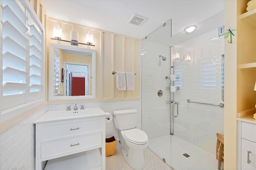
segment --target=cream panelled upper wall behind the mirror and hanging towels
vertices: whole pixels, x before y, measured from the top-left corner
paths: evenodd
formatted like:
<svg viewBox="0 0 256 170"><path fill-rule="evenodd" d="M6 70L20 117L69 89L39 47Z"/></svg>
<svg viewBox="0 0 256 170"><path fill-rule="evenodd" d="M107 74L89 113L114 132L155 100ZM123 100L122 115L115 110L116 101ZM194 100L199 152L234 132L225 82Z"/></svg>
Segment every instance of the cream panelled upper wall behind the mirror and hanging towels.
<svg viewBox="0 0 256 170"><path fill-rule="evenodd" d="M78 42L86 42L86 34L94 36L94 46L79 44L78 47L96 50L96 99L86 102L124 101L140 99L140 39L80 24L48 18L46 48L49 58L49 43L70 45L68 42L51 40L53 28L62 28L62 39L70 40L70 31L78 32ZM71 45L70 45L71 46ZM51 62L51 61L48 61ZM112 71L136 73L134 90L118 91L116 75ZM48 89L51 90L51 89ZM58 101L64 103L63 101ZM50 101L50 103L54 103Z"/></svg>

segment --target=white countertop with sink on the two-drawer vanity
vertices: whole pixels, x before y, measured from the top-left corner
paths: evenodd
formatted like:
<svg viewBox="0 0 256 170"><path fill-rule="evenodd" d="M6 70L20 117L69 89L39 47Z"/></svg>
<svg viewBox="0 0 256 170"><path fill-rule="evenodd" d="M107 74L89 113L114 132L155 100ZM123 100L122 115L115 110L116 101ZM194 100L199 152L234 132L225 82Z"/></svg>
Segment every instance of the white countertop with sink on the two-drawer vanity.
<svg viewBox="0 0 256 170"><path fill-rule="evenodd" d="M44 115L34 121L34 124L100 116L106 116L106 113L102 111L100 107L88 107L84 110L77 111L55 110L47 111Z"/></svg>

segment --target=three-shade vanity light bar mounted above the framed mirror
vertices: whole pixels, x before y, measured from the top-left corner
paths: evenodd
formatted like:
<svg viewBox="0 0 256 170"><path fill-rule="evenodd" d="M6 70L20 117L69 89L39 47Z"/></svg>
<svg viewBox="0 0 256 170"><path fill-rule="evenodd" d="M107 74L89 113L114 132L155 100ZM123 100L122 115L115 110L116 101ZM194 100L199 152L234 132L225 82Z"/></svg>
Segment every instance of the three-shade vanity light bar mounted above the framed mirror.
<svg viewBox="0 0 256 170"><path fill-rule="evenodd" d="M62 42L70 42L71 45L78 45L78 44L82 44L82 45L90 45L90 46L95 46L95 45L92 45L93 43L93 35L92 34L86 34L86 43L80 43L80 42L77 42L78 40L78 33L77 32L70 32L70 38L72 41L68 41L68 40L62 40L62 29L61 28L53 28L53 37L54 38L51 38L51 40L56 40L56 41L62 41ZM90 40L87 40L87 37L90 37ZM76 39L76 40L74 40Z"/></svg>

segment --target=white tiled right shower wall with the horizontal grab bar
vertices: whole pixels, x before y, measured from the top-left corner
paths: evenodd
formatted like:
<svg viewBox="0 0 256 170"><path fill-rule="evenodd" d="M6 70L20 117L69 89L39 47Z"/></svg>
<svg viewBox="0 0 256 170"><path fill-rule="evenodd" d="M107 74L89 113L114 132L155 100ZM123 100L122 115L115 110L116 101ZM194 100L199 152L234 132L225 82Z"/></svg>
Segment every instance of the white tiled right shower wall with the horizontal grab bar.
<svg viewBox="0 0 256 170"><path fill-rule="evenodd" d="M174 135L215 154L216 132L224 133L224 108L187 103L187 99L224 103L221 99L224 38L218 37L218 29L214 29L174 47L194 51L194 61L174 59L174 65L178 64L174 74L180 76L175 81L180 90L174 93L174 101L180 104L179 116L174 118Z"/></svg>

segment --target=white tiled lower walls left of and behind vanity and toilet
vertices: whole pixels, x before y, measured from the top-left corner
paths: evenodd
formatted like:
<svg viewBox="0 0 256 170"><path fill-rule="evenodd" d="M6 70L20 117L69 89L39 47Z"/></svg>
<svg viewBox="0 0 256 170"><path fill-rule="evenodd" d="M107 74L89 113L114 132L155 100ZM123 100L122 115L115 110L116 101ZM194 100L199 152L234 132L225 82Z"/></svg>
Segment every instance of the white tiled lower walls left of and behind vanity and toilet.
<svg viewBox="0 0 256 170"><path fill-rule="evenodd" d="M101 103L76 103L85 105L85 107L100 107L104 112L113 115L113 111L121 109L137 109L138 123L137 128L141 129L141 101L113 101ZM71 105L74 108L75 103L58 105L59 109L66 109ZM42 116L49 107L44 107L40 111L30 115L16 125L8 128L0 134L0 169L35 169L35 125L33 122ZM118 137L118 132L114 127L114 121L106 123L106 137ZM121 137L121 136L120 136ZM122 141L122 138L121 138ZM116 142L116 148L120 148L123 142Z"/></svg>

